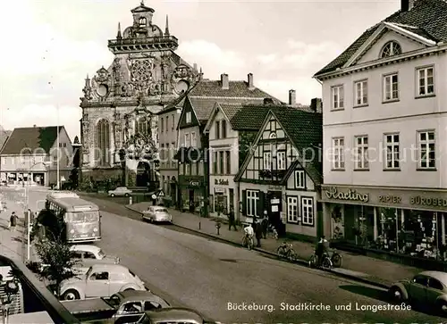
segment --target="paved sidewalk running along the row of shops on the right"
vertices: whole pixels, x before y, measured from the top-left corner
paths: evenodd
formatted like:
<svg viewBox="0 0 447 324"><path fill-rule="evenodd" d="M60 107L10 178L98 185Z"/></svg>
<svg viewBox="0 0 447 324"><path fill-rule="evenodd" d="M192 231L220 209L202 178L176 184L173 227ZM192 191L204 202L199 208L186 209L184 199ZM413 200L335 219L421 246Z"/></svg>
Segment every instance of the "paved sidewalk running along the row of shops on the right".
<svg viewBox="0 0 447 324"><path fill-rule="evenodd" d="M147 210L149 205L152 204L139 203L127 205L126 207L133 212L141 212ZM173 209L169 209L169 211L173 215L174 225L178 227L188 228L228 243L241 245L241 230L230 231L228 230L228 224L222 224L219 229L220 235L217 235L214 219L199 218L197 215L193 215L189 212L179 212ZM198 228L199 222L200 229ZM275 240L274 238L267 237L266 239L261 240L261 248L255 248L255 250L276 255L276 249L282 242L282 239ZM288 242L293 245L294 250L299 254L299 258L301 259L299 263L307 265L310 256L314 253L315 245L300 241L292 241L290 239L288 239ZM346 278L355 278L375 286L390 287L393 282L403 278L411 278L418 272L423 271L394 262L386 262L384 260L370 258L365 255L358 255L344 251L340 251L340 253L343 258L342 268L333 269L331 272Z"/></svg>

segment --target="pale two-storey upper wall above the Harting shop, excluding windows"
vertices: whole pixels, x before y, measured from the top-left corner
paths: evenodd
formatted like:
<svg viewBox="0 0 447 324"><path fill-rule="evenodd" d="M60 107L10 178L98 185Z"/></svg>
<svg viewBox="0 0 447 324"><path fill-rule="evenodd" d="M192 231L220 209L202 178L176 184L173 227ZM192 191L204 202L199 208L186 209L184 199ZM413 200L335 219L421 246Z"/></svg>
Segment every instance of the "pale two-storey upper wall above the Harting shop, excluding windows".
<svg viewBox="0 0 447 324"><path fill-rule="evenodd" d="M407 46L404 42L401 45ZM375 54L379 49L373 47ZM447 96L442 91L447 72L446 57L446 54L426 56L324 81L323 96L327 103L324 107L325 184L447 186L443 170L444 129L447 127L443 112L446 112ZM434 66L435 96L417 98L417 68L423 66ZM399 73L399 100L383 103L383 76L396 71ZM360 79L368 81L368 104L353 107L354 82ZM336 85L344 85L344 109L332 111L331 87ZM427 129L435 130L436 169L417 170L417 131ZM401 170L384 170L384 133L396 132L400 134ZM354 170L354 137L359 135L368 137L369 170ZM345 170L333 170L333 137L344 137Z"/></svg>

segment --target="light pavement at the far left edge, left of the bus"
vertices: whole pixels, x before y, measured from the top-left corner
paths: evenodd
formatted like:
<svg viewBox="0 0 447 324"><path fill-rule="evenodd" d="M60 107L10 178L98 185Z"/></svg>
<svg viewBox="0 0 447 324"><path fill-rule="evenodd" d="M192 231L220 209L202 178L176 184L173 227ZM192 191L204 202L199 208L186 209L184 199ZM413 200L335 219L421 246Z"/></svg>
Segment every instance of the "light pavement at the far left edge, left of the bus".
<svg viewBox="0 0 447 324"><path fill-rule="evenodd" d="M7 210L0 212L0 254L17 261L26 261L27 242L26 233L24 233L24 199L20 195L12 197L4 190L0 191L0 201L6 203ZM15 231L8 228L11 214L15 212L19 216L19 221ZM30 260L37 260L36 253L31 246Z"/></svg>

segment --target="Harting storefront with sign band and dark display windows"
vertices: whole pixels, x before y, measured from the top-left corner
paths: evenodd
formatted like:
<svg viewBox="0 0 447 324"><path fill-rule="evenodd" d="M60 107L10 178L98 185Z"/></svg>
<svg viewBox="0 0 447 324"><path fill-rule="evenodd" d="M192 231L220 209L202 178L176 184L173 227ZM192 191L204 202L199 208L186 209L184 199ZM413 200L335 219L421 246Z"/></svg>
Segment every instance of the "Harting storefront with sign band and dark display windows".
<svg viewBox="0 0 447 324"><path fill-rule="evenodd" d="M446 255L447 190L322 186L333 239L431 259Z"/></svg>

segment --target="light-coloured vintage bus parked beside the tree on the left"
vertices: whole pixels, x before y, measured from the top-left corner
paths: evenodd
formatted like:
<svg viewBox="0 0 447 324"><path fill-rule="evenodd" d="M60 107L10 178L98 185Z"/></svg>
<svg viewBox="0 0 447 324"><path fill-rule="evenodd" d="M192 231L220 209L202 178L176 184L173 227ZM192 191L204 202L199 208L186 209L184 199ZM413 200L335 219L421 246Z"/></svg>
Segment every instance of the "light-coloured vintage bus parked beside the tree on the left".
<svg viewBox="0 0 447 324"><path fill-rule="evenodd" d="M63 220L63 235L68 243L87 243L101 239L101 216L96 204L72 192L46 195L46 210Z"/></svg>

